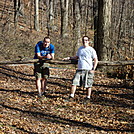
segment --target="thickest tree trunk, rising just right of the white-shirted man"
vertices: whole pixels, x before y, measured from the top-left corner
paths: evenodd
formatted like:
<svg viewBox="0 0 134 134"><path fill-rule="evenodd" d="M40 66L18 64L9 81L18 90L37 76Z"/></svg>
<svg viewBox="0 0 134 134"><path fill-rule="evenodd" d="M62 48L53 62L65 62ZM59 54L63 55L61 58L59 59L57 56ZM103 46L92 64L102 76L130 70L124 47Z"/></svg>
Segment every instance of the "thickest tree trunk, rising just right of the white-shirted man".
<svg viewBox="0 0 134 134"><path fill-rule="evenodd" d="M97 53L99 60L110 59L112 0L98 1Z"/></svg>

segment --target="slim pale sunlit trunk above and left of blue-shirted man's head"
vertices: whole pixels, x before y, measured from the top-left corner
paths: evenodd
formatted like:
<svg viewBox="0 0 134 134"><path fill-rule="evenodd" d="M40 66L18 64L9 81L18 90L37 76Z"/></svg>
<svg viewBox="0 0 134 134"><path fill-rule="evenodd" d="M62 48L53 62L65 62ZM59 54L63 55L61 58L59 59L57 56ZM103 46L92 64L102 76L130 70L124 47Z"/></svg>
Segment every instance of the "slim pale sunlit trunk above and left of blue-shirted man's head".
<svg viewBox="0 0 134 134"><path fill-rule="evenodd" d="M39 0L35 0L34 29L39 31Z"/></svg>

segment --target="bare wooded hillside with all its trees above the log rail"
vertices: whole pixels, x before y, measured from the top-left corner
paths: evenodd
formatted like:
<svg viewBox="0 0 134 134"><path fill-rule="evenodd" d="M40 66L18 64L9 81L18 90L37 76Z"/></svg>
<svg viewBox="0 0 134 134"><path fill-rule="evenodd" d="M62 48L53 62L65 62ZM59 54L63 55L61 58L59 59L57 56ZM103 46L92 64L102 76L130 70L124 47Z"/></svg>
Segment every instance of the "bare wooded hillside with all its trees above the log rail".
<svg viewBox="0 0 134 134"><path fill-rule="evenodd" d="M33 58L34 46L50 36L56 58L75 55L91 37L99 60L134 57L133 0L1 0L1 60Z"/></svg>

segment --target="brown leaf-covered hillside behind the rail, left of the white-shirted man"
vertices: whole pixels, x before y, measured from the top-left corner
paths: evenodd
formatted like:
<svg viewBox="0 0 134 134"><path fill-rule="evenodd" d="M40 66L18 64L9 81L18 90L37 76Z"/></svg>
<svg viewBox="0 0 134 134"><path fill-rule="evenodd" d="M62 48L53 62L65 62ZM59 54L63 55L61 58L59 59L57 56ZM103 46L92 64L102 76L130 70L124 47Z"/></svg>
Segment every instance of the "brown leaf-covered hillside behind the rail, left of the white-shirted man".
<svg viewBox="0 0 134 134"><path fill-rule="evenodd" d="M22 2L24 14L18 15L18 25L14 24L14 1L0 1L0 60L19 60L33 58L35 44L48 36L47 8L40 5L40 30L34 29L34 2L25 0ZM40 4L43 4L40 2ZM42 9L41 9L42 8ZM61 38L60 6L56 7L58 16L52 27L49 27L51 43L56 47L56 59L64 56L72 56L74 52L74 40L72 24L69 25L68 37ZM89 26L90 27L90 26ZM81 29L82 34L84 29ZM89 29L88 33L93 38L94 31ZM64 45L63 45L64 44ZM68 48L68 49L66 49ZM60 53L60 55L59 55Z"/></svg>

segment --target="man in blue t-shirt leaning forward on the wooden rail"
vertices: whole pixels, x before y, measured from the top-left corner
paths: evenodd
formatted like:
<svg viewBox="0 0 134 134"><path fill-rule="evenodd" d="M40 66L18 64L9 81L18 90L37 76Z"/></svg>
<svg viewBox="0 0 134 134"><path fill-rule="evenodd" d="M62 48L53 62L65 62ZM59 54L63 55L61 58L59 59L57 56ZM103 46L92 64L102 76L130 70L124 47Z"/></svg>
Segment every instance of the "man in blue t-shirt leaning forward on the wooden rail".
<svg viewBox="0 0 134 134"><path fill-rule="evenodd" d="M36 88L39 96L42 96L46 90L47 78L49 77L48 64L44 63L44 59L54 59L55 47L50 43L50 38L45 37L43 41L39 41L35 46L34 59L39 59L34 64L34 74L36 77Z"/></svg>

